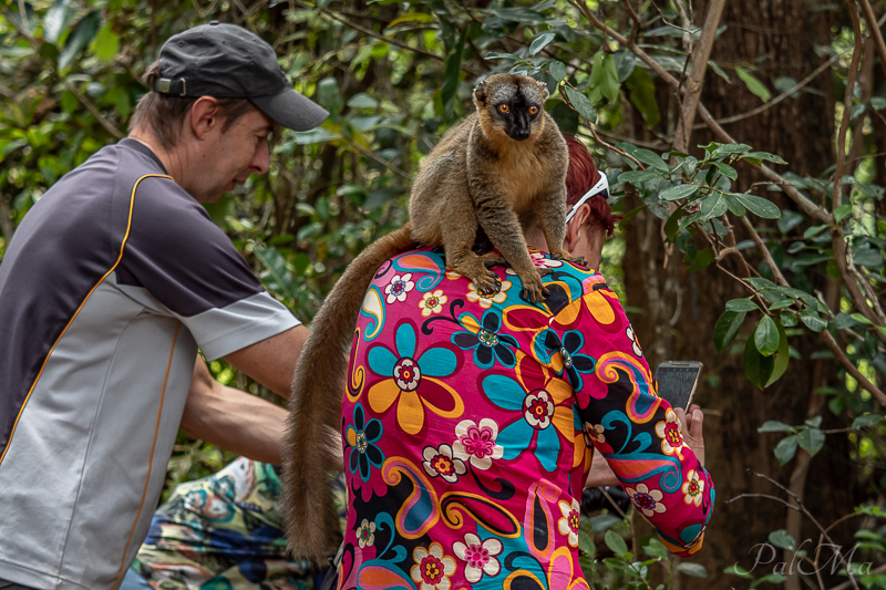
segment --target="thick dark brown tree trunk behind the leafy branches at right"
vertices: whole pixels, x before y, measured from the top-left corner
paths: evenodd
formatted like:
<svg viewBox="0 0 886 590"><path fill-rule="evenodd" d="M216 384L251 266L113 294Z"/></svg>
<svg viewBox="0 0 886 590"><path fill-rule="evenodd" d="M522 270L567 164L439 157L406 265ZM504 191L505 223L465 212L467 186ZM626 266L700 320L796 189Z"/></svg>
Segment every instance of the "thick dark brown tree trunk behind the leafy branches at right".
<svg viewBox="0 0 886 590"><path fill-rule="evenodd" d="M814 52L814 42L816 37L824 42L830 39L827 19L831 13L813 8L805 0L745 0L727 4L722 24L728 28L717 40L712 59L729 72L731 83L709 69L701 99L715 118L744 113L761 105L761 100L735 75L735 66L752 72L775 96L780 93L772 84L775 79L791 76L802 80L822 63L823 58ZM700 24L703 18L704 6L697 2L696 23ZM755 59L759 56L764 56L764 60L758 62ZM787 99L725 128L739 142L750 144L754 149L781 155L790 163L787 169L801 176L818 176L833 162L834 103L831 85L830 73L825 72L810 85L820 91L817 94L802 92L797 99ZM660 103L660 107L663 111L666 105ZM632 118L641 122L638 115ZM661 134L669 132L663 123L657 131ZM635 137L655 138L641 128L635 128ZM697 131L689 145L703 145L711 139L713 136L707 130ZM690 153L699 156L700 149L690 148ZM748 190L753 183L763 179L750 165L740 166L739 175L740 183L733 187L735 192ZM764 190L763 186L759 186L753 187L752 192L766 196L783 208L796 209L780 193ZM637 205L639 201L631 203L626 209ZM753 216L750 219L755 226L764 224ZM628 303L645 310L645 313L631 317L631 321L640 342L646 345L645 351L652 368L663 360L699 360L704 363L696 400L707 411L707 467L717 486L717 501L704 549L693 561L707 567L709 578L683 578L681 587L729 588L739 580L723 575L723 569L735 562L751 569L760 550L759 544L766 542L770 531L787 527L785 508L779 503L741 498L727 504L742 493L785 496L771 484L749 475L748 469L767 474L783 485L793 484L801 495L805 489L805 503L825 526L852 510L848 490L851 476L844 459L847 456L845 437L830 435L824 452L813 457L808 466L799 464L797 458L780 467L772 449L783 435L761 435L756 432L767 420L802 424L811 408L820 415L828 414L825 416L827 424L833 416L827 410L821 408L823 404L818 403L818 396L813 396L812 391L826 384L837 385L827 383L828 379L834 379L836 371L830 361L821 361L826 369L813 372L815 361L811 361L810 355L821 346L814 334L804 332L802 337L790 339L802 360L792 360L785 375L765 392L751 385L744 376L742 346L733 344L732 351L719 354L712 340L714 324L725 302L749 293L714 266L697 272L686 271L686 265L679 259L682 255L676 248L667 251L662 244L661 225L661 220L643 210L626 228L628 248L624 272ZM740 227L735 225L738 240L744 239L745 236L739 232ZM774 224L770 225L774 227ZM802 232L802 229L796 231ZM777 235L776 230L766 236ZM699 249L708 247L701 239L697 240L697 246ZM748 258L752 266L760 261L754 253ZM735 276L745 276L735 257L727 257L722 263ZM765 275L765 269L761 273ZM813 278L813 283L826 290L824 277ZM751 315L742 330L745 338L759 320L759 315ZM740 342L743 343L742 337ZM823 375L822 381L815 382L813 373ZM796 522L792 522L792 528L797 528ZM800 530L797 544L805 538L812 538L813 546L817 544L817 531L813 532L808 522L803 522ZM841 531L836 532L839 536ZM808 544L805 548L808 549ZM765 549L761 560L767 557L769 550ZM771 573L773 567L784 560L781 550L777 550L771 563L763 565L761 561L752 573L754 578ZM790 565L789 558L785 573ZM799 588L793 583L791 586Z"/></svg>

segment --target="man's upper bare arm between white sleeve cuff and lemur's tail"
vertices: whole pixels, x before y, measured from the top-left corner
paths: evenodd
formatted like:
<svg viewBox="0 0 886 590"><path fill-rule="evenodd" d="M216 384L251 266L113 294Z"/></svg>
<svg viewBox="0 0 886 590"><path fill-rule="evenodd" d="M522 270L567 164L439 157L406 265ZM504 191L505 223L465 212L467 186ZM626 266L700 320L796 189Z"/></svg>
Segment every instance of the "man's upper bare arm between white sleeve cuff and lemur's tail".
<svg viewBox="0 0 886 590"><path fill-rule="evenodd" d="M225 360L274 393L289 397L296 362L310 332L296 325L267 340L231 352Z"/></svg>

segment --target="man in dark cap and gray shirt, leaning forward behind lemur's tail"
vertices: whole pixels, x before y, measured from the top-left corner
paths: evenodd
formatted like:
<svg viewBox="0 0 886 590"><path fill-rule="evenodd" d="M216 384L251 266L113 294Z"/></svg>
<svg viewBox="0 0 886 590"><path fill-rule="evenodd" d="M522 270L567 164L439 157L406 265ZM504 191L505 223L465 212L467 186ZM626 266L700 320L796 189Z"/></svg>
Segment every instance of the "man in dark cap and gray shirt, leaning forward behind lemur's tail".
<svg viewBox="0 0 886 590"><path fill-rule="evenodd" d="M0 589L119 587L179 423L280 460L285 411L197 350L288 395L307 329L200 203L268 172L277 125L327 112L231 24L172 37L148 80L130 136L45 193L0 266Z"/></svg>

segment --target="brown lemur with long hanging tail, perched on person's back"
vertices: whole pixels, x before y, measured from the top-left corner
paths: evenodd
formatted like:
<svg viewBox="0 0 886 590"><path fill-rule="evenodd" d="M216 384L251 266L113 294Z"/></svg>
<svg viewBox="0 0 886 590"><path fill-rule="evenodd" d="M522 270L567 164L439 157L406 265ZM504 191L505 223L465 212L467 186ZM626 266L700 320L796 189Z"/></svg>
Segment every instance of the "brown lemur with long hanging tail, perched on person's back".
<svg viewBox="0 0 886 590"><path fill-rule="evenodd" d="M442 245L446 267L477 289L497 292L486 267L506 262L523 282L525 299L547 294L523 229L537 224L554 257L583 263L563 249L569 153L544 111L548 92L528 76L495 74L474 90L476 112L424 158L410 194L410 221L358 256L318 312L298 362L289 401L285 447L286 530L299 558L323 561L339 544L339 519L329 488L341 459L338 442L348 349L361 302L387 259L421 245ZM482 228L501 252L477 257L471 248Z"/></svg>

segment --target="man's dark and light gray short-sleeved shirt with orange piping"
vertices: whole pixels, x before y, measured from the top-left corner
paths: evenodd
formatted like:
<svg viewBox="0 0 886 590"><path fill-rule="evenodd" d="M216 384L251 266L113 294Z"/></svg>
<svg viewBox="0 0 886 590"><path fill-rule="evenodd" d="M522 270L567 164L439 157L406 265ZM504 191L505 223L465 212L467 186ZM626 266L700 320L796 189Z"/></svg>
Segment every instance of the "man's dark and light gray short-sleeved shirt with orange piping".
<svg viewBox="0 0 886 590"><path fill-rule="evenodd" d="M0 579L117 587L197 349L214 360L297 324L143 144L53 185L0 265Z"/></svg>

